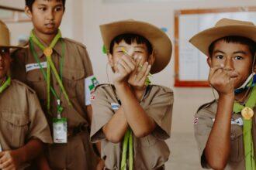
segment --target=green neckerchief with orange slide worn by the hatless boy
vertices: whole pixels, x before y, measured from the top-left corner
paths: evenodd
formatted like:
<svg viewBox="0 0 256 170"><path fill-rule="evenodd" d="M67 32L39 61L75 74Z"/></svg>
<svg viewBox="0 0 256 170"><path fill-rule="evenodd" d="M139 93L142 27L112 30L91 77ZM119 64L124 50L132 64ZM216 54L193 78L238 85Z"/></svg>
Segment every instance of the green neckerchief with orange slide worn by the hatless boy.
<svg viewBox="0 0 256 170"><path fill-rule="evenodd" d="M56 77L57 83L61 87L61 91L64 93L64 97L66 98L68 105L72 106L71 101L69 100L69 98L67 96L67 92L64 89L64 86L63 86L63 83L62 83L62 78L57 73L56 67L54 66L54 62L51 59L51 55L53 53L53 48L57 44L59 39L61 39L61 31L60 30L57 32L57 35L54 37L53 41L50 43L50 46L45 47L40 42L40 40L37 39L37 37L34 35L33 31L30 34L30 45L31 45L31 49L33 51L33 56L35 57L37 63L39 64L40 70L42 70L42 72L43 72L44 79L47 81L47 110L48 110L48 113L50 113L50 90L52 91L52 93L54 93L54 96L57 97L57 94L56 94L55 90L50 86L50 72L51 72L51 69L54 72L54 76ZM43 67L40 64L40 61L39 61L38 56L36 54L36 51L33 48L33 42L36 43L36 45L39 46L41 50L43 50L43 54L47 57L47 73L44 72ZM63 57L64 56L62 56L62 58ZM62 66L61 66L60 72L61 72L61 76L62 76ZM61 107L61 104L59 102L60 101L59 97L57 97L57 101L58 101L57 102L57 112L59 114L61 114L61 112L63 110L63 107Z"/></svg>

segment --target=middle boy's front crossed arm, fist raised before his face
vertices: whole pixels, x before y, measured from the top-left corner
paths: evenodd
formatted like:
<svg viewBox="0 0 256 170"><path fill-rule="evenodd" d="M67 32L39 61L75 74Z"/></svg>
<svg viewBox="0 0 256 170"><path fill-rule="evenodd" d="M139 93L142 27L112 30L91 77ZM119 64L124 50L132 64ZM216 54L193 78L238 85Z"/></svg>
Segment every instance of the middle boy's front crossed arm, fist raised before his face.
<svg viewBox="0 0 256 170"><path fill-rule="evenodd" d="M137 69L137 63L135 63L129 56L123 56L119 59L116 68L113 80L116 87L116 93L122 102L123 114L135 136L137 136L137 138L144 137L154 130L156 124L140 106L136 95L127 83L127 76ZM140 73L137 74L140 76L141 82L146 80L149 72L150 65L146 62L140 70Z"/></svg>

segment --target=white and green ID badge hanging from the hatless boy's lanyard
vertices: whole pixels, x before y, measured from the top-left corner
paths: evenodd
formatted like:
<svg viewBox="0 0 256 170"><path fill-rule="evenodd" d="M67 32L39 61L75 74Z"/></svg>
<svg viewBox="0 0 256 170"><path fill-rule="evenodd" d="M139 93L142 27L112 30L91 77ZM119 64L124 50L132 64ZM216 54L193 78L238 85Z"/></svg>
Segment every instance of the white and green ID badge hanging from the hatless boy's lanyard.
<svg viewBox="0 0 256 170"><path fill-rule="evenodd" d="M54 118L54 143L67 143L67 118Z"/></svg>

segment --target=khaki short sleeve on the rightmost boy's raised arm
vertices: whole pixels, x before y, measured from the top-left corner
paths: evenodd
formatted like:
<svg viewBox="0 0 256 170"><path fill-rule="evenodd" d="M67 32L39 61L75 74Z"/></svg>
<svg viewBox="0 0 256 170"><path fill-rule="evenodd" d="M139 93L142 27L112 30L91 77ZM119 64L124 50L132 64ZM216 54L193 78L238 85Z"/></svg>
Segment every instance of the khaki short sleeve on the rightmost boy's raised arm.
<svg viewBox="0 0 256 170"><path fill-rule="evenodd" d="M194 133L195 141L199 149L199 158L202 168L209 168L204 155L204 150L206 148L206 143L208 141L209 134L212 131L212 128L213 118L208 116L208 113L205 109L199 110L199 112L195 114Z"/></svg>

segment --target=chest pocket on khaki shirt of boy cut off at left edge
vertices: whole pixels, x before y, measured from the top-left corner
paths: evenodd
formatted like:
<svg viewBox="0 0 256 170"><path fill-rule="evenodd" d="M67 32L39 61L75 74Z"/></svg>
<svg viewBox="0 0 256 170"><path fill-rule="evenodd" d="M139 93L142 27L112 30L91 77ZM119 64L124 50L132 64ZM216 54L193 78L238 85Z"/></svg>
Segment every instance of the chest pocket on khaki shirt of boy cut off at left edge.
<svg viewBox="0 0 256 170"><path fill-rule="evenodd" d="M25 145L29 131L29 117L14 111L4 110L0 113L1 129L12 148Z"/></svg>

